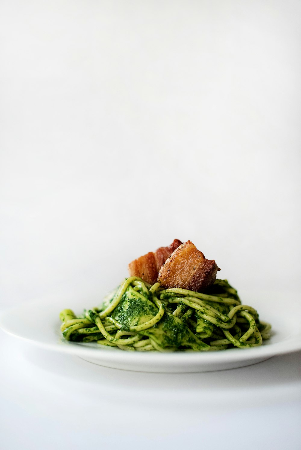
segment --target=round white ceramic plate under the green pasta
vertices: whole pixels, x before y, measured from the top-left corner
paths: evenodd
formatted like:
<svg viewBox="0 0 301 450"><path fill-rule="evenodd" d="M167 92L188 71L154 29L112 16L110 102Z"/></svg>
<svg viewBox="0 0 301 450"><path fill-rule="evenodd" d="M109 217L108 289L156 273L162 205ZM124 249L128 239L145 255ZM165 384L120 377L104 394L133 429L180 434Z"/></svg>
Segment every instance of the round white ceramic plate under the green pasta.
<svg viewBox="0 0 301 450"><path fill-rule="evenodd" d="M247 297L247 298L246 298ZM244 304L257 308L260 318L272 324L273 335L261 347L214 352L128 352L102 348L96 343L67 342L61 337L59 312L70 308L76 314L99 304L99 297L52 296L2 312L0 326L18 338L48 350L75 354L92 363L141 372L206 372L233 369L267 360L275 355L301 350L301 302L297 294L248 293Z"/></svg>

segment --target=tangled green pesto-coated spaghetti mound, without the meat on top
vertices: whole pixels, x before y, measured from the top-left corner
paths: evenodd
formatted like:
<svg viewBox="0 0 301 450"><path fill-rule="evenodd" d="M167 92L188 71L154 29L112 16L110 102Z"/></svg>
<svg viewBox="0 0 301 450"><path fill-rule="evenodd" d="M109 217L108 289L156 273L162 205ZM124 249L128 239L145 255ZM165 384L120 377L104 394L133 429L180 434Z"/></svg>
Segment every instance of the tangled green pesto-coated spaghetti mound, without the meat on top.
<svg viewBox="0 0 301 450"><path fill-rule="evenodd" d="M99 307L76 316L59 315L68 341L92 342L127 351L213 351L256 347L269 339L271 325L242 305L227 280L206 293L153 286L126 278Z"/></svg>

